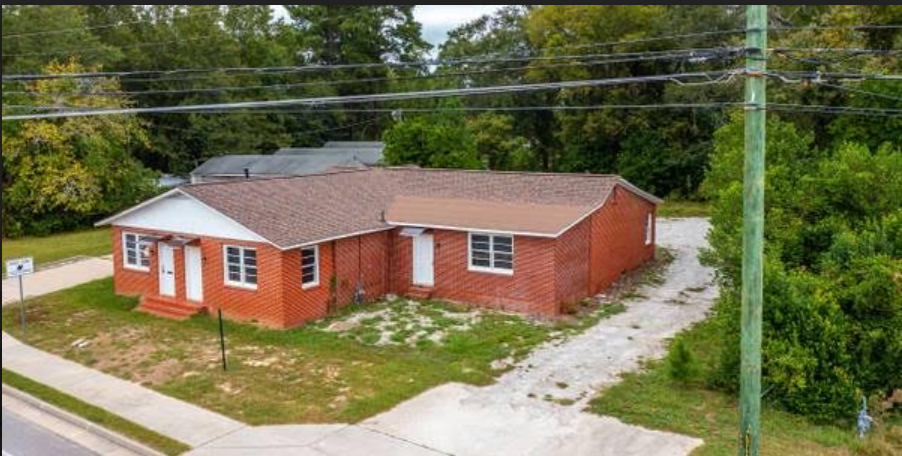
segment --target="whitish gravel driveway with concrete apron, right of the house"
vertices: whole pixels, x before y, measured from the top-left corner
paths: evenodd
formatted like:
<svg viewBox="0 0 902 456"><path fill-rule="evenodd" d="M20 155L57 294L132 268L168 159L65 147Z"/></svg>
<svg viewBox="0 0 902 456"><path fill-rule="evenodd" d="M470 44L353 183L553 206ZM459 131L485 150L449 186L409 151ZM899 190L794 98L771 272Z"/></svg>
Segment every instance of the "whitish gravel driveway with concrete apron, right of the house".
<svg viewBox="0 0 902 456"><path fill-rule="evenodd" d="M699 439L630 426L582 412L588 401L642 359L663 356L666 340L702 320L717 290L698 262L708 222L658 221L657 242L675 259L664 283L583 334L536 349L488 387L446 384L373 417L363 426L459 456L682 456ZM561 405L567 404L567 405Z"/></svg>

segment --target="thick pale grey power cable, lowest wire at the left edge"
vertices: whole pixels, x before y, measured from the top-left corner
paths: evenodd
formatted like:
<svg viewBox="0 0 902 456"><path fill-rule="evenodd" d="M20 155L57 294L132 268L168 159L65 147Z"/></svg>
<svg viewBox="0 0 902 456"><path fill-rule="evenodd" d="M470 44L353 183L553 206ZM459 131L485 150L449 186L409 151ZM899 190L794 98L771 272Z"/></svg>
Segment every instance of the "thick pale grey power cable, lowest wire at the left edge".
<svg viewBox="0 0 902 456"><path fill-rule="evenodd" d="M275 106L325 106L333 104L346 103L364 103L364 102L384 102L384 101L402 101L417 100L428 98L447 98L456 96L474 96L489 95L498 93L520 93L536 90L552 90L552 89L573 89L582 87L600 87L609 85L649 83L649 82L673 82L678 84L692 84L693 79L702 79L695 82L696 84L716 84L729 82L733 76L739 74L739 70L716 71L716 72L695 72L695 73L678 73L654 76L634 76L623 78L608 79L587 79L577 81L562 82L545 82L535 84L515 84L504 86L489 87L472 87L462 89L442 89L431 91L417 92L394 92L370 95L345 95L318 98L296 98L283 100L267 100L267 101L242 101L230 103L213 103L202 105L184 105L184 106L162 106L162 107L146 107L146 108L116 108L116 109L92 109L80 111L67 111L56 113L42 114L22 114L3 117L3 121L7 120L27 120L27 119L49 119L62 117L80 117L80 116L97 116L97 115L118 115L118 114L141 114L141 113L175 113L189 112L201 110L223 110L223 109L245 109L245 108L265 108ZM716 78L716 79L715 79ZM686 80L686 81L684 81Z"/></svg>

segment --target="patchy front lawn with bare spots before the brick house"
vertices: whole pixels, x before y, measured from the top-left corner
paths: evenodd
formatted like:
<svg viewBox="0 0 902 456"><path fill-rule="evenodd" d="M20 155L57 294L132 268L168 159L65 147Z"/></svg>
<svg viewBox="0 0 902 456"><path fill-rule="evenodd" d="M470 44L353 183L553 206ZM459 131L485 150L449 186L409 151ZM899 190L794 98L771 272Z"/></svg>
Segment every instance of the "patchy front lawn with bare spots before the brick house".
<svg viewBox="0 0 902 456"><path fill-rule="evenodd" d="M114 295L110 279L33 298L28 343L250 424L273 424L356 422L445 382L487 384L500 373L493 360L523 356L552 333L566 333L483 312L442 343L380 346L368 335L375 317L345 333L325 330L335 319L288 331L227 322L223 372L215 319L171 321L134 312L136 303ZM358 307L336 318L392 305ZM439 318L441 329L455 325L452 314L460 311L427 303L420 312ZM13 335L16 312L3 311L4 330ZM86 345L77 348L76 341Z"/></svg>

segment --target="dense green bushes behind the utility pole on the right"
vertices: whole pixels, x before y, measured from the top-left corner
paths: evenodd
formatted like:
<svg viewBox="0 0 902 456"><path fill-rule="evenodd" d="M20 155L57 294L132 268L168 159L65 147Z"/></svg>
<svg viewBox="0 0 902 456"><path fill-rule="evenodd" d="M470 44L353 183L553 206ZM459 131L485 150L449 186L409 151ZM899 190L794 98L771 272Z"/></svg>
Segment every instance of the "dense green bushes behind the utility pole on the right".
<svg viewBox="0 0 902 456"><path fill-rule="evenodd" d="M849 417L860 396L902 387L902 151L885 143L818 148L768 120L764 382L770 398L820 419ZM722 272L717 318L731 339L716 384L739 362L742 118L716 134L703 185L715 200L712 250Z"/></svg>

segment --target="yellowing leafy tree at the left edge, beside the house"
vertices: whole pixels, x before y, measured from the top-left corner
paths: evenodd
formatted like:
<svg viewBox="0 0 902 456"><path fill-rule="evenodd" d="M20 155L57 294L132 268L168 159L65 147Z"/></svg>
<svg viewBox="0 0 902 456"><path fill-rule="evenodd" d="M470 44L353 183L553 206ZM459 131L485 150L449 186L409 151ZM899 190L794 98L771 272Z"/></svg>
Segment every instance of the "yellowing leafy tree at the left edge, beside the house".
<svg viewBox="0 0 902 456"><path fill-rule="evenodd" d="M48 73L84 71L75 64L50 65ZM40 81L33 93L52 104L54 93L115 91L115 80ZM78 108L121 108L116 97L74 97ZM72 117L30 120L3 134L3 234L46 234L83 226L98 216L135 204L155 191L154 173L129 150L146 144L135 117Z"/></svg>

